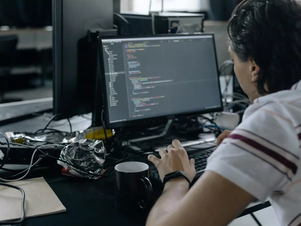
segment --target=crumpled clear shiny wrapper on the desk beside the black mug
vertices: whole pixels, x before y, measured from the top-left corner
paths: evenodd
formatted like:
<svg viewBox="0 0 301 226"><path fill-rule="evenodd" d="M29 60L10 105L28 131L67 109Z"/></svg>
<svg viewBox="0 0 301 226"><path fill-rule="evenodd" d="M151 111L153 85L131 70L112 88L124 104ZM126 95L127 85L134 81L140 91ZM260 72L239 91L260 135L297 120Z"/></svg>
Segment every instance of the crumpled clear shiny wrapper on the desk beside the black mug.
<svg viewBox="0 0 301 226"><path fill-rule="evenodd" d="M106 154L101 140L83 139L66 146L61 152L60 159L78 166L88 173L101 175L104 172ZM90 179L99 178L99 176L88 174L64 162L57 161L57 163L75 176Z"/></svg>

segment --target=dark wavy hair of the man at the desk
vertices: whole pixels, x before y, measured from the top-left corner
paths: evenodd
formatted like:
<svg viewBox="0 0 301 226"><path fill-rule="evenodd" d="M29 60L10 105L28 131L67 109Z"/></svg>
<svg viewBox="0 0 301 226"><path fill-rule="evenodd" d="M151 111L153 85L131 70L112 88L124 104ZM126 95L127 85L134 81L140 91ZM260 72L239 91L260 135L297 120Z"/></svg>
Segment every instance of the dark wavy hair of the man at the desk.
<svg viewBox="0 0 301 226"><path fill-rule="evenodd" d="M253 58L259 66L259 94L289 89L301 80L301 5L296 0L244 0L233 11L228 34L239 60Z"/></svg>

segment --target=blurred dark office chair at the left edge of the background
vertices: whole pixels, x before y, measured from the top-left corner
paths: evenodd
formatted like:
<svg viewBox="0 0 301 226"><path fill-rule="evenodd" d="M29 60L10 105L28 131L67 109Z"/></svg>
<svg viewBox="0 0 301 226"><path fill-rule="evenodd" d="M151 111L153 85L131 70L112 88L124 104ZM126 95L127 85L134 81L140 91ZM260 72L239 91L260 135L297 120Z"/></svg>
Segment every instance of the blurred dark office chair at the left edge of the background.
<svg viewBox="0 0 301 226"><path fill-rule="evenodd" d="M17 52L18 36L0 36L0 103L21 101L22 99L4 99L7 91L8 78L14 65Z"/></svg>

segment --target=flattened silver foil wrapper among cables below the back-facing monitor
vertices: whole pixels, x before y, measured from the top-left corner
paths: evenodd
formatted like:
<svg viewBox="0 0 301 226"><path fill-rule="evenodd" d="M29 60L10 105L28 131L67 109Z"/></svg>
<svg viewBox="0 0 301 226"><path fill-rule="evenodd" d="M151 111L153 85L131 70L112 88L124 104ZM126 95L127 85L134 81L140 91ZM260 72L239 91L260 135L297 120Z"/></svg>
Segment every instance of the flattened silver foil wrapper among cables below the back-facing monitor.
<svg viewBox="0 0 301 226"><path fill-rule="evenodd" d="M79 136L79 132L66 133L66 132L53 132L53 133L28 133L28 132L7 132L5 133L12 142L20 143L21 139L24 142L37 141L49 143L69 143L68 140ZM23 142L21 142L23 143Z"/></svg>

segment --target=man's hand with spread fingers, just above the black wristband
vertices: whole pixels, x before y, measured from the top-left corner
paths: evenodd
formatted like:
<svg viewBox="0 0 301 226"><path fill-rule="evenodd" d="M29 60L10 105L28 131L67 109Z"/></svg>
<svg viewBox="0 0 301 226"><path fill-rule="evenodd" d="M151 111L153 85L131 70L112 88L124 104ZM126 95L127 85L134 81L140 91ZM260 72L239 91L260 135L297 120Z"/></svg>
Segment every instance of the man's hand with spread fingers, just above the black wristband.
<svg viewBox="0 0 301 226"><path fill-rule="evenodd" d="M183 148L180 141L173 140L172 145L167 147L167 152L164 149L159 150L161 159L158 159L154 155L148 156L148 160L154 163L154 165L157 167L162 182L166 174L178 170L185 173L189 177L190 181L192 181L196 174L194 168L194 159L188 159L187 152Z"/></svg>

